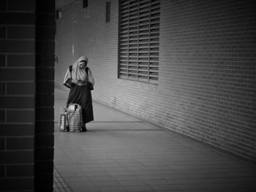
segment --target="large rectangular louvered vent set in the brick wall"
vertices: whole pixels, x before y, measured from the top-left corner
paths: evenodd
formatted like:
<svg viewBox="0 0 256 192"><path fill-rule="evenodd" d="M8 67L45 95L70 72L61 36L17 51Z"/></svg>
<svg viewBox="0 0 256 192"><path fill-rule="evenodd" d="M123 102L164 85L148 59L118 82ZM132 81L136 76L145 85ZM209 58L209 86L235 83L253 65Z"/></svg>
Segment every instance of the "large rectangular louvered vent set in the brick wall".
<svg viewBox="0 0 256 192"><path fill-rule="evenodd" d="M118 77L158 83L159 0L120 1Z"/></svg>

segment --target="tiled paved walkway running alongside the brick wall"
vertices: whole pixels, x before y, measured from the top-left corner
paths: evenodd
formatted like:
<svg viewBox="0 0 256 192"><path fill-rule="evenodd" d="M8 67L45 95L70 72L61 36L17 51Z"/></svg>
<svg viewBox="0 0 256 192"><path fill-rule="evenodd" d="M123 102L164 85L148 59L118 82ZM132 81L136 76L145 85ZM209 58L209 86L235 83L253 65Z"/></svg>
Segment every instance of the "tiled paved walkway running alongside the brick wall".
<svg viewBox="0 0 256 192"><path fill-rule="evenodd" d="M97 102L94 119L88 132L55 132L66 191L256 191L255 166Z"/></svg>

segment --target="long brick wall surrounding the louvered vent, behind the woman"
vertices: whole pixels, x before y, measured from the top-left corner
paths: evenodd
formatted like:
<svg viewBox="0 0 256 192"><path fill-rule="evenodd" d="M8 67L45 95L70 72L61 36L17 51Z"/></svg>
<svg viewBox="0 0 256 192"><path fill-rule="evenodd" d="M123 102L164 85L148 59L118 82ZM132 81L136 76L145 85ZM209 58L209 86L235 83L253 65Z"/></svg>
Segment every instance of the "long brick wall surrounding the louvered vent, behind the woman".
<svg viewBox="0 0 256 192"><path fill-rule="evenodd" d="M254 1L161 1L159 85L117 79L118 1L62 7L56 88L89 57L93 99L255 162ZM97 115L97 114L94 114Z"/></svg>

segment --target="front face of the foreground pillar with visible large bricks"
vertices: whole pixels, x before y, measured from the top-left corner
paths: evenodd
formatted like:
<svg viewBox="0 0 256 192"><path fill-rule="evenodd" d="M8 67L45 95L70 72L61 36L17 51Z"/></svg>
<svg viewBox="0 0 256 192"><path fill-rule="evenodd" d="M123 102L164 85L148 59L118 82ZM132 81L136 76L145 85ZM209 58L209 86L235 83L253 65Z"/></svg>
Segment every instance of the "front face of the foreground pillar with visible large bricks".
<svg viewBox="0 0 256 192"><path fill-rule="evenodd" d="M36 7L17 4L0 4L0 191L34 191Z"/></svg>

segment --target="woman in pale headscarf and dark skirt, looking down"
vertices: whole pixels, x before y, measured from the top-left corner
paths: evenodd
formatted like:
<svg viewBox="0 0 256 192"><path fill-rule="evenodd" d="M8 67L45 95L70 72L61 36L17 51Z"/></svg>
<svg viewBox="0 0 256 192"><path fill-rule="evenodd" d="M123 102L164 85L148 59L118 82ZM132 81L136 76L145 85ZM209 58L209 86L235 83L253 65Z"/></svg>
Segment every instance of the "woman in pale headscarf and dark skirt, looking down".
<svg viewBox="0 0 256 192"><path fill-rule="evenodd" d="M81 56L78 61L72 64L72 72L67 69L67 73L64 77L64 85L71 75L71 86L69 91L69 97L67 99L67 105L71 103L80 104L83 112L83 129L87 131L86 123L94 120L94 112L92 109L91 91L89 85L94 86L94 77L92 76L91 69L87 66L88 58ZM87 68L87 69L86 69ZM88 70L88 71L87 71ZM87 71L87 73L86 73Z"/></svg>

